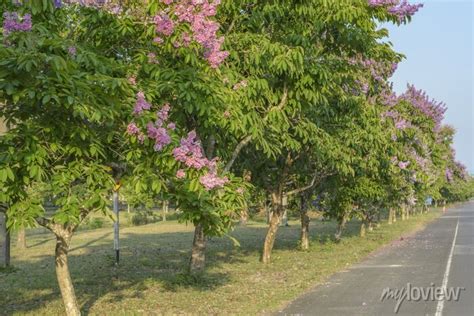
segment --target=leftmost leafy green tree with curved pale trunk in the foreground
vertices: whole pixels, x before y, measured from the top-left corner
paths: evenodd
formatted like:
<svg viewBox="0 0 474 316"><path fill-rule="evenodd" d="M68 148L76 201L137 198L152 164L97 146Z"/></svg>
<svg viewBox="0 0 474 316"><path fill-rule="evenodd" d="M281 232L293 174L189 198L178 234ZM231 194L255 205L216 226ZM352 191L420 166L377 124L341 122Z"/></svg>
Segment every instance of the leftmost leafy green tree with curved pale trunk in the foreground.
<svg viewBox="0 0 474 316"><path fill-rule="evenodd" d="M79 315L67 254L82 220L108 209L132 90L126 63L101 39L124 41L124 22L52 1L1 8L0 116L10 130L0 140L0 201L9 205L11 229L36 222L55 235L66 313ZM100 34L104 25L116 33ZM46 213L29 190L54 195L57 211Z"/></svg>

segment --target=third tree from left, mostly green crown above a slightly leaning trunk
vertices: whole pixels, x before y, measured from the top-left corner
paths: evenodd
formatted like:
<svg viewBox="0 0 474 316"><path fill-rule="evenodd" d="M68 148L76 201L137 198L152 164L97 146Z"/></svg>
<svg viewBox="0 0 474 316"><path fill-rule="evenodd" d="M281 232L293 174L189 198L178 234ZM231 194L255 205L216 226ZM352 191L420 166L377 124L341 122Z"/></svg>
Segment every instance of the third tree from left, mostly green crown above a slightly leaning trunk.
<svg viewBox="0 0 474 316"><path fill-rule="evenodd" d="M353 172L338 128L359 115L351 107L363 104L364 87L349 60L378 58L391 65L399 59L379 43L378 16L393 19L365 1L223 4L223 24L232 29L227 62L246 83L239 87L241 124L231 128L251 144L236 167L251 170L254 184L272 197L264 262L270 261L288 194L310 190L317 184L313 178L323 181L326 172ZM347 128L344 137L352 126Z"/></svg>

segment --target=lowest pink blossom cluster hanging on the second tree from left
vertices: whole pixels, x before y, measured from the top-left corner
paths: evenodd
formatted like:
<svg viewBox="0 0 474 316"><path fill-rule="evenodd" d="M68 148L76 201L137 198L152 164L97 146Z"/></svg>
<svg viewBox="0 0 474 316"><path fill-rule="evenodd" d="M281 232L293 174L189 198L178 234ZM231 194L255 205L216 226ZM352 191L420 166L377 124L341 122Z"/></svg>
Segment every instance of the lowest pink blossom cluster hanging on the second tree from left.
<svg viewBox="0 0 474 316"><path fill-rule="evenodd" d="M207 159L202 151L201 143L197 140L195 131L189 132L187 137L182 138L180 146L173 149L173 156L177 161L183 162L187 167L200 170L207 167L208 172L199 178L199 182L206 190L223 187L229 179L217 175L217 159ZM178 170L176 177L184 178L182 169Z"/></svg>

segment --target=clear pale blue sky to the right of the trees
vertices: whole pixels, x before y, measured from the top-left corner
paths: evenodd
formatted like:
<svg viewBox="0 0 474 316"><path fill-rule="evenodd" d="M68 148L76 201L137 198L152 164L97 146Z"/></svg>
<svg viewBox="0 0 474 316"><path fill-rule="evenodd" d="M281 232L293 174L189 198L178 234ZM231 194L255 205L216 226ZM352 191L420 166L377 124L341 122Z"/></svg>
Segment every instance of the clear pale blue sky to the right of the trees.
<svg viewBox="0 0 474 316"><path fill-rule="evenodd" d="M413 0L410 2L414 2ZM474 173L474 0L425 0L408 25L384 25L406 59L392 78L397 93L407 83L448 106L445 123L457 130L457 160Z"/></svg>

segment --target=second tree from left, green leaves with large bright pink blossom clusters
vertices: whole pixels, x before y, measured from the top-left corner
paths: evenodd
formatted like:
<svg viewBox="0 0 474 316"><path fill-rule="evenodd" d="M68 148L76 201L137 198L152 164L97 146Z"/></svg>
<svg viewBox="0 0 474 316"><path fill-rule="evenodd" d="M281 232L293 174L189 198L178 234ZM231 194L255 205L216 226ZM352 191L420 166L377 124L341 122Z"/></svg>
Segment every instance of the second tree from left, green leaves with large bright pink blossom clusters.
<svg viewBox="0 0 474 316"><path fill-rule="evenodd" d="M218 69L228 56L214 19L218 4L150 1L152 24L135 52L141 63L131 77L137 89L127 128L132 181L137 192L164 187L180 219L195 225L191 272L204 268L205 236L228 231L248 192L228 173L233 162L227 159L238 144L226 128L238 111L235 85ZM158 166L168 172L157 174Z"/></svg>

